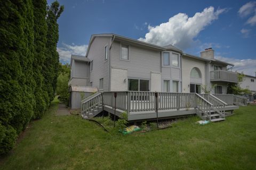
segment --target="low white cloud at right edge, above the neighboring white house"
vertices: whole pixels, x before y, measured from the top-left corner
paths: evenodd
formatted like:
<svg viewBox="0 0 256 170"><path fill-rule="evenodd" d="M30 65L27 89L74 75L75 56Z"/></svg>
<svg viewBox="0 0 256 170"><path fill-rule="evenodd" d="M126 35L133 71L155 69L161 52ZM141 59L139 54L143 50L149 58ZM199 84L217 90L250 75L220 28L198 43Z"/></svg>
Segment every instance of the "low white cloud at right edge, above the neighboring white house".
<svg viewBox="0 0 256 170"><path fill-rule="evenodd" d="M234 58L227 58L222 56L215 56L217 60L221 60L223 62L234 64L232 71L237 71L239 73L243 72L247 75L255 76L256 71L256 60L255 59L234 59Z"/></svg>

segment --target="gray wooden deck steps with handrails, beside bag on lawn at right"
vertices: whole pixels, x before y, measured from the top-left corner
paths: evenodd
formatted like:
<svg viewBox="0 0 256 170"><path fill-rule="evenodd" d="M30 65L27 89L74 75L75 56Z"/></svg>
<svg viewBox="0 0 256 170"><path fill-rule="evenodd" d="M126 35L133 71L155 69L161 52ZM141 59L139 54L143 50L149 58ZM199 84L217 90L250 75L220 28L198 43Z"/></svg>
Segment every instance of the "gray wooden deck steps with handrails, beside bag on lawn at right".
<svg viewBox="0 0 256 170"><path fill-rule="evenodd" d="M225 106L227 103L211 94L197 96L197 115L211 122L225 121Z"/></svg>

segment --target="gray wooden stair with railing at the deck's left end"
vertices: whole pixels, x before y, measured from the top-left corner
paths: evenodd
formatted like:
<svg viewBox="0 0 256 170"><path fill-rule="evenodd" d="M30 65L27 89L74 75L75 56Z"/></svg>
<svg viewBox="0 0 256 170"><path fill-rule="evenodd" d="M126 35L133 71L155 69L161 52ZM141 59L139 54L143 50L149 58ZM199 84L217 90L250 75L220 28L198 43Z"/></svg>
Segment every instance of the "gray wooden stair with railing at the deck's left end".
<svg viewBox="0 0 256 170"><path fill-rule="evenodd" d="M81 116L84 119L97 116L103 111L102 93L97 92L81 101Z"/></svg>

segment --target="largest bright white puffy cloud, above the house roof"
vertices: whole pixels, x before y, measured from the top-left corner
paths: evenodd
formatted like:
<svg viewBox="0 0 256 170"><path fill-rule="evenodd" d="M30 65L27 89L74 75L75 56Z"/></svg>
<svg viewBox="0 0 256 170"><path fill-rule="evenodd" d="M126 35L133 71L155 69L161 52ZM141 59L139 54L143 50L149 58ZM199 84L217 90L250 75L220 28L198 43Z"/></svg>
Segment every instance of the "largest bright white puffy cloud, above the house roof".
<svg viewBox="0 0 256 170"><path fill-rule="evenodd" d="M203 29L212 21L217 20L219 14L228 11L227 8L214 11L214 7L205 8L202 12L197 12L193 17L179 13L172 16L168 22L161 23L155 27L148 25L148 33L141 41L160 46L172 44L181 49L191 47Z"/></svg>

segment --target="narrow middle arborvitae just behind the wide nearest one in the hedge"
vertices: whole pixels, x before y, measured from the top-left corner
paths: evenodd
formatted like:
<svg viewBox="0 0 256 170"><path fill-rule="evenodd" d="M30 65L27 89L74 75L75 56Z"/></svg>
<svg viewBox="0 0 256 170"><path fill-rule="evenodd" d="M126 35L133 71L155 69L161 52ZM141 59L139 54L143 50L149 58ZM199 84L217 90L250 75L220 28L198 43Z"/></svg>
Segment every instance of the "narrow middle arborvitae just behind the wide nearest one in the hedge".
<svg viewBox="0 0 256 170"><path fill-rule="evenodd" d="M47 33L47 24L46 24L46 1L37 0L33 1L34 6L34 79L36 81L35 88L35 113L34 118L41 118L45 112L46 106L49 103L48 94L46 91L43 91L44 86L44 77L42 67L45 62L45 53L46 53L46 33ZM47 104L46 104L47 102Z"/></svg>

